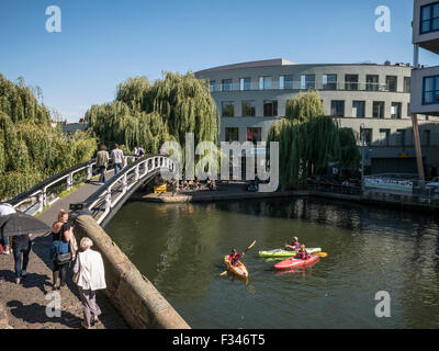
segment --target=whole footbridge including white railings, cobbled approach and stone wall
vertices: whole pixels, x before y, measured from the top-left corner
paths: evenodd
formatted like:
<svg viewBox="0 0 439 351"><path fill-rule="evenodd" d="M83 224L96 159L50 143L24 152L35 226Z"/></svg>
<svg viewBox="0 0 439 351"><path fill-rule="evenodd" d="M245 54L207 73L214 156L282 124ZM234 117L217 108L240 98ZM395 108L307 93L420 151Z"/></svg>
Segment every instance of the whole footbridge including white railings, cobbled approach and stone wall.
<svg viewBox="0 0 439 351"><path fill-rule="evenodd" d="M71 211L77 241L83 237L91 238L93 249L101 252L104 262L106 288L98 294L103 328L188 329L190 326L103 229L137 189L156 177L176 171L177 165L166 155L143 158L128 155L125 165L117 174L110 167L105 174L109 179L102 184L95 181L95 159L92 159L50 177L9 203L18 211L37 216L49 227L57 220L60 208ZM3 268L0 271L3 275L0 280L0 306L5 306L3 315L12 328L80 328L81 303L71 280L67 283L69 288L60 292L64 317L45 317L46 296L50 293L46 285L50 286L53 281L50 247L49 234L34 240L23 285L14 282L13 260L0 256ZM26 313L16 313L16 306ZM4 325L1 316L0 310L0 326Z"/></svg>

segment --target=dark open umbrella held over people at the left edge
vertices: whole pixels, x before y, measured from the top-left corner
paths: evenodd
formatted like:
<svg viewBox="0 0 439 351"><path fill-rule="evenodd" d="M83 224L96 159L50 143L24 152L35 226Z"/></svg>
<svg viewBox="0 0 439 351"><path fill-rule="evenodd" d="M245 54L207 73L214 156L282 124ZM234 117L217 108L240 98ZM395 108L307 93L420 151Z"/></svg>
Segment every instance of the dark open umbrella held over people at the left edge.
<svg viewBox="0 0 439 351"><path fill-rule="evenodd" d="M0 228L3 236L10 237L50 231L50 228L45 223L22 213L0 217Z"/></svg>

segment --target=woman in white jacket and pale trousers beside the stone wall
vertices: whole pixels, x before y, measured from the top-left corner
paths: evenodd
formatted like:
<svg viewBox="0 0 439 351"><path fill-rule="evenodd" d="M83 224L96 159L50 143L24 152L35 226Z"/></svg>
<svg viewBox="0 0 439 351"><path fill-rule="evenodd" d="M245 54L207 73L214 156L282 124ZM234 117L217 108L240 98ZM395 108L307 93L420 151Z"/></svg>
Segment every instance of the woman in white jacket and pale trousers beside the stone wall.
<svg viewBox="0 0 439 351"><path fill-rule="evenodd" d="M83 321L81 326L90 329L91 321L97 324L101 309L95 302L95 291L106 288L105 272L101 253L91 249L93 241L90 238L82 238L79 247L82 252L77 254L74 273L77 276L79 295L83 308Z"/></svg>

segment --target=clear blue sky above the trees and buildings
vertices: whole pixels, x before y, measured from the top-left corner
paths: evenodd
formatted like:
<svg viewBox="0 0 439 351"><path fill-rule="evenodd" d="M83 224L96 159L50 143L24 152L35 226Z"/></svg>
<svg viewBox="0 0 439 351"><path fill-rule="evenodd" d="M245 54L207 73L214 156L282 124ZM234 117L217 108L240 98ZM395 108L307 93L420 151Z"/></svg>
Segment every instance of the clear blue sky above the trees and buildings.
<svg viewBox="0 0 439 351"><path fill-rule="evenodd" d="M61 10L48 33L46 8ZM391 33L374 29L391 10ZM77 122L133 76L196 71L248 60L412 63L413 0L1 0L0 73L43 89L44 103ZM436 66L435 55L420 61Z"/></svg>

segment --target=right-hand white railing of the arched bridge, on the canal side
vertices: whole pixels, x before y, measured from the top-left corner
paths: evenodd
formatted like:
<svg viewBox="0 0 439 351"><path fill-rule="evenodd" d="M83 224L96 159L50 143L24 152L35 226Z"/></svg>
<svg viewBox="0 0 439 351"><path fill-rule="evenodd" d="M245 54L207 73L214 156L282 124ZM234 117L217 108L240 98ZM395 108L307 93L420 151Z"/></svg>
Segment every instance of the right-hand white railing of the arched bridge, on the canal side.
<svg viewBox="0 0 439 351"><path fill-rule="evenodd" d="M137 159L126 166L117 176L109 179L82 205L92 214L98 224L101 224L130 190L158 169L167 169L173 172L176 165L166 155L148 155Z"/></svg>

